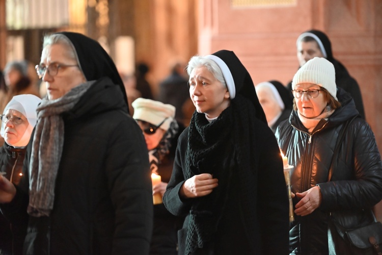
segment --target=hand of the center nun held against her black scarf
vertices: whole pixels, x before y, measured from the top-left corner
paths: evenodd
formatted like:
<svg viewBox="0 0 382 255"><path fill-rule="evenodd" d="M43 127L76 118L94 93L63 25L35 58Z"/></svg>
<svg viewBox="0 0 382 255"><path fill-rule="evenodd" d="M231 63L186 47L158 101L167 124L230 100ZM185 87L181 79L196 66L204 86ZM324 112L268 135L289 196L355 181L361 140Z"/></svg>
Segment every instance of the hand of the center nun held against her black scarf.
<svg viewBox="0 0 382 255"><path fill-rule="evenodd" d="M183 183L180 195L184 198L206 196L217 187L217 182L209 173L194 175Z"/></svg>

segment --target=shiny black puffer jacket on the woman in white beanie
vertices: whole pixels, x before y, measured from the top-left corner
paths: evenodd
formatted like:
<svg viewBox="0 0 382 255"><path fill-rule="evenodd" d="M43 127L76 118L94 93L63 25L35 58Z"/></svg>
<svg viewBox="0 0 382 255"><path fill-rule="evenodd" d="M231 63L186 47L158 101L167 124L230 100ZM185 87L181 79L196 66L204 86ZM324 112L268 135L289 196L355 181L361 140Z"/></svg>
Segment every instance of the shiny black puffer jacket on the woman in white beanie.
<svg viewBox="0 0 382 255"><path fill-rule="evenodd" d="M337 168L327 182L334 147L344 121L357 115L351 96L338 88L342 107L327 121L321 120L312 134L292 112L276 132L279 146L293 165L292 192L304 192L315 185L321 190L321 205L312 214L295 217L290 230L291 252L328 253L328 215L338 210L362 210L382 199L382 162L370 126L354 119L340 147ZM294 205L297 198L293 201Z"/></svg>

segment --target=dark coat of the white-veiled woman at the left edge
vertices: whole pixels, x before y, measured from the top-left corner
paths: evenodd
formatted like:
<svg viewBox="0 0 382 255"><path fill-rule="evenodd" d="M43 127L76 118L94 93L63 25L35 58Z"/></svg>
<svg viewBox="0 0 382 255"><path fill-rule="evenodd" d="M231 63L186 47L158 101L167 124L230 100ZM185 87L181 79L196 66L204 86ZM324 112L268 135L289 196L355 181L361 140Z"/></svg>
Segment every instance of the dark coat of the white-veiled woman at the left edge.
<svg viewBox="0 0 382 255"><path fill-rule="evenodd" d="M4 143L0 148L0 171L13 184L20 182L22 165L26 148L15 148ZM0 254L22 254L22 243L25 238L25 227L10 224L8 219L0 213Z"/></svg>

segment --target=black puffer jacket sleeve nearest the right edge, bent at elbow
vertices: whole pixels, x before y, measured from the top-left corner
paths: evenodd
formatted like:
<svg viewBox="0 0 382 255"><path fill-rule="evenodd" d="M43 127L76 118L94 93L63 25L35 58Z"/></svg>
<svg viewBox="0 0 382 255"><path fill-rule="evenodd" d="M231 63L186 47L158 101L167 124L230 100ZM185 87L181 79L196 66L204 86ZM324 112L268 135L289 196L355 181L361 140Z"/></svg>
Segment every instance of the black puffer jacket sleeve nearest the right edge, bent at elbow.
<svg viewBox="0 0 382 255"><path fill-rule="evenodd" d="M333 211L373 207L382 199L382 162L366 121L356 119L351 123L339 153L332 181L319 184L320 208ZM349 174L352 179L346 178Z"/></svg>

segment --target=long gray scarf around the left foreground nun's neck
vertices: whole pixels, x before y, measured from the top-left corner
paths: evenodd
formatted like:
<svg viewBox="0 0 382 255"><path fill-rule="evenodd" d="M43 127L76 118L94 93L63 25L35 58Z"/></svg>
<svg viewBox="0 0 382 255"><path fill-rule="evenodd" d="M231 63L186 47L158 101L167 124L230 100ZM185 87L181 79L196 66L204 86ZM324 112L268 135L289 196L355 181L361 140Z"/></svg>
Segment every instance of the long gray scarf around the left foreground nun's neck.
<svg viewBox="0 0 382 255"><path fill-rule="evenodd" d="M43 98L37 107L37 124L29 165L28 213L49 216L53 209L54 187L64 144L64 120L61 114L71 110L94 81L81 84L64 96Z"/></svg>

